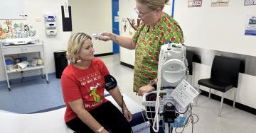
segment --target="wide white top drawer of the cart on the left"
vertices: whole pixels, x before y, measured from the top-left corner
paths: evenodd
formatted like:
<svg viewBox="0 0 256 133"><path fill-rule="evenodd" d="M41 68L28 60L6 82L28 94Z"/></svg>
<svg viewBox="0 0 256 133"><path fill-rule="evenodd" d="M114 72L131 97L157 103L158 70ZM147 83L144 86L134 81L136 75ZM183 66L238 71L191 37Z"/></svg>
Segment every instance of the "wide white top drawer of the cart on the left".
<svg viewBox="0 0 256 133"><path fill-rule="evenodd" d="M29 47L5 47L4 54L22 54L27 52L41 52L43 51L42 45L34 45Z"/></svg>

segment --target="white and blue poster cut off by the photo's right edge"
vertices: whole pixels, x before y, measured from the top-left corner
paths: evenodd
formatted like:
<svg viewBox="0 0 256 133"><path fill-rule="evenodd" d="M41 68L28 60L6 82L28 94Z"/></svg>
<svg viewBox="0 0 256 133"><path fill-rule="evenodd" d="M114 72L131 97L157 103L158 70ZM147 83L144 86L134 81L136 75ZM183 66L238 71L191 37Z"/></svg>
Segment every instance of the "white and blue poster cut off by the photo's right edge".
<svg viewBox="0 0 256 133"><path fill-rule="evenodd" d="M245 22L245 35L256 35L256 15L247 16Z"/></svg>

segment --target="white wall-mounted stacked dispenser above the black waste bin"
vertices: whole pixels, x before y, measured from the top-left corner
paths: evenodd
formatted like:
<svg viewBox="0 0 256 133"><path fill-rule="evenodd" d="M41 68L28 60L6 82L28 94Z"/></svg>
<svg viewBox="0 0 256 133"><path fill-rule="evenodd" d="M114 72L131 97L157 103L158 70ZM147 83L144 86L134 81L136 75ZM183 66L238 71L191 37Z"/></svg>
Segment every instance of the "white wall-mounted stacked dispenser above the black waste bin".
<svg viewBox="0 0 256 133"><path fill-rule="evenodd" d="M57 35L56 15L47 14L45 16L46 21L46 35Z"/></svg>

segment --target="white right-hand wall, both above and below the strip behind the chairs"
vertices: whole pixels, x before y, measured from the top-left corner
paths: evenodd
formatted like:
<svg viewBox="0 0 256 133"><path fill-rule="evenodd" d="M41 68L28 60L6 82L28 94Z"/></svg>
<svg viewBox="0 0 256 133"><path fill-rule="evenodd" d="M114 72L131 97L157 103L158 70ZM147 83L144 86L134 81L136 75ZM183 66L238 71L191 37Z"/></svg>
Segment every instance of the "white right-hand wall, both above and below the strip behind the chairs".
<svg viewBox="0 0 256 133"><path fill-rule="evenodd" d="M230 1L226 7L210 7L210 1L203 1L201 8L188 8L188 1L176 1L174 18L181 25L185 44L255 56L256 37L245 35L245 18L255 15L256 6L243 6L243 2ZM193 71L194 86L197 86L198 79L210 77L210 66L193 63ZM239 75L238 103L256 108L255 83L256 76ZM213 93L220 96L216 91ZM225 98L233 100L233 91L228 91Z"/></svg>

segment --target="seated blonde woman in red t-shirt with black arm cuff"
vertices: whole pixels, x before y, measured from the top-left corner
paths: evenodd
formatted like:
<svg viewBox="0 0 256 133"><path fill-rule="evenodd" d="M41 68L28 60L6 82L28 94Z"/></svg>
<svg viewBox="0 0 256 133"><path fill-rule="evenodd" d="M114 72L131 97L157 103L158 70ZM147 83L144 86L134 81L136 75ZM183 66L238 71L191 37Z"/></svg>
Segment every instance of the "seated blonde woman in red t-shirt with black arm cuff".
<svg viewBox="0 0 256 133"><path fill-rule="evenodd" d="M122 99L114 77L102 60L94 57L94 52L89 35L75 33L70 37L67 51L70 64L61 76L67 106L65 123L78 133L130 133L132 114ZM105 89L122 108L124 115L105 98Z"/></svg>

